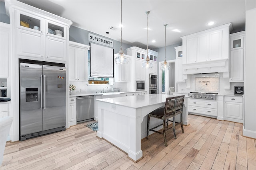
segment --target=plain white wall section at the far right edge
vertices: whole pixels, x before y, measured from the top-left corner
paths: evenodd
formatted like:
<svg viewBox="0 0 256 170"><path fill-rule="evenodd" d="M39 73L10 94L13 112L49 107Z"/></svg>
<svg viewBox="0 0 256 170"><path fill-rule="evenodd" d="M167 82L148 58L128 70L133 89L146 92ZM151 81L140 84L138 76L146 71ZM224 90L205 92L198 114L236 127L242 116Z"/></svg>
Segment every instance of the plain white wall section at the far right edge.
<svg viewBox="0 0 256 170"><path fill-rule="evenodd" d="M256 2L246 1L246 7L243 135L256 138Z"/></svg>

